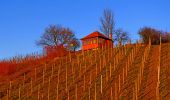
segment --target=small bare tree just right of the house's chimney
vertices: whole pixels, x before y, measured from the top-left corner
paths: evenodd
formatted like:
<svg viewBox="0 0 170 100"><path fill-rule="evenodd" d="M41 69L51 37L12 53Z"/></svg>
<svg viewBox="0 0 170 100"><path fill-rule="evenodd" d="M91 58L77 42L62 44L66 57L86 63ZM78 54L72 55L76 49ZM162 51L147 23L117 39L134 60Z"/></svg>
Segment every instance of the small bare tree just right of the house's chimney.
<svg viewBox="0 0 170 100"><path fill-rule="evenodd" d="M123 29L117 29L115 31L115 38L114 38L114 40L120 46L120 45L122 45L122 43L124 44L125 42L127 42L129 40L128 33L123 31Z"/></svg>

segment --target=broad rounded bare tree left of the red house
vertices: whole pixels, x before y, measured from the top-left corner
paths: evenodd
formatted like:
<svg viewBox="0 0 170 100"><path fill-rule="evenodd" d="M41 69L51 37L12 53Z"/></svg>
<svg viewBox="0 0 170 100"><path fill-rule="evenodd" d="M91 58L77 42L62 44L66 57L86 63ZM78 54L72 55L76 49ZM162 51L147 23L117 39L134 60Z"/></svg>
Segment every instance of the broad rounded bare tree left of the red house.
<svg viewBox="0 0 170 100"><path fill-rule="evenodd" d="M69 28L64 28L60 25L50 25L45 29L41 39L37 45L46 46L63 46L67 50L74 51L80 46L79 40Z"/></svg>

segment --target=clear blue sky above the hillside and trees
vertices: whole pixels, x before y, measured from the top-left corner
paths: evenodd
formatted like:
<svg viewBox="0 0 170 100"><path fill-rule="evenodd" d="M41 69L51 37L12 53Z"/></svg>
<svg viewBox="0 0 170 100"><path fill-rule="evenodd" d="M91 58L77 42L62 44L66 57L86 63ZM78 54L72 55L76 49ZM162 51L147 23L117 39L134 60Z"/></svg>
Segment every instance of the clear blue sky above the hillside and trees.
<svg viewBox="0 0 170 100"><path fill-rule="evenodd" d="M99 31L100 17L108 8L115 28L139 39L140 28L170 31L169 0L1 0L0 59L42 52L36 45L49 25L71 28L78 39Z"/></svg>

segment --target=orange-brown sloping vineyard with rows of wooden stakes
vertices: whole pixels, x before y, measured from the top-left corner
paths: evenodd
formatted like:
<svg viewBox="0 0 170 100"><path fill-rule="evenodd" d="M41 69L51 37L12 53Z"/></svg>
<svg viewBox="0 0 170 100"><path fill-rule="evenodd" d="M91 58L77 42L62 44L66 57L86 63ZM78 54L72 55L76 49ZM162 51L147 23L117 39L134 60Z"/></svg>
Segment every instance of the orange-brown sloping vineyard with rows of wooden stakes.
<svg viewBox="0 0 170 100"><path fill-rule="evenodd" d="M77 51L0 78L2 100L170 100L170 44Z"/></svg>

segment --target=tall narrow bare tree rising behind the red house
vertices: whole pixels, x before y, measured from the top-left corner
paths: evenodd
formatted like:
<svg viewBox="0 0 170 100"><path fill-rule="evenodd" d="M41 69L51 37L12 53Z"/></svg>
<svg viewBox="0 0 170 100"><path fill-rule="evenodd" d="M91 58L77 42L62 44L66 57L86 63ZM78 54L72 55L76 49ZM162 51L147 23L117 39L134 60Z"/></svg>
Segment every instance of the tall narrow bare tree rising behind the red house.
<svg viewBox="0 0 170 100"><path fill-rule="evenodd" d="M110 9L105 9L103 16L100 18L101 27L100 30L109 37L109 34L113 34L115 21L113 12Z"/></svg>

